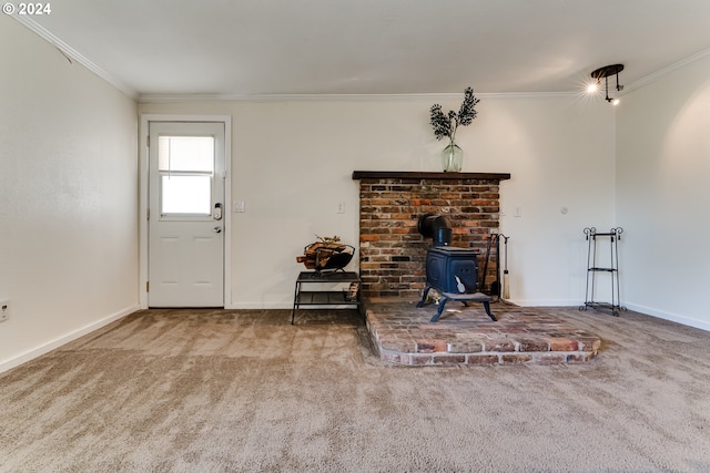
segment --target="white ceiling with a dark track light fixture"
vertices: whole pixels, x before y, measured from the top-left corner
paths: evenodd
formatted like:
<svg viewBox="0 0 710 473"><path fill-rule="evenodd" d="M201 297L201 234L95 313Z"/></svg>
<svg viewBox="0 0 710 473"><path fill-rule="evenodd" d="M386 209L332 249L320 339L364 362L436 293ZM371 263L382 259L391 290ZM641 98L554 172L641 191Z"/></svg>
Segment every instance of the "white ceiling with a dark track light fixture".
<svg viewBox="0 0 710 473"><path fill-rule="evenodd" d="M710 0L62 0L18 18L128 93L576 92L710 52ZM615 82L616 85L616 82Z"/></svg>

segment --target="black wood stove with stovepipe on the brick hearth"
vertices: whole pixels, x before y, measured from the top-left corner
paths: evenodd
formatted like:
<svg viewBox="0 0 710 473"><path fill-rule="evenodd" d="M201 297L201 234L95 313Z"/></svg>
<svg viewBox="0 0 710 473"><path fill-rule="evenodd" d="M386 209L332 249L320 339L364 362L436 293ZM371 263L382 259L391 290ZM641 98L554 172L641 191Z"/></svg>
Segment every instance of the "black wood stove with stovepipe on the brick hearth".
<svg viewBox="0 0 710 473"><path fill-rule="evenodd" d="M490 296L477 291L478 260L476 253L469 248L456 248L450 245L452 230L445 217L426 214L419 218L419 233L425 238L433 238L433 247L426 254L426 287L417 307L424 307L432 288L442 294L439 308L432 317L432 322L438 320L444 312L446 302L483 302L486 313L491 320L496 317L490 312ZM448 232L446 232L448 229Z"/></svg>

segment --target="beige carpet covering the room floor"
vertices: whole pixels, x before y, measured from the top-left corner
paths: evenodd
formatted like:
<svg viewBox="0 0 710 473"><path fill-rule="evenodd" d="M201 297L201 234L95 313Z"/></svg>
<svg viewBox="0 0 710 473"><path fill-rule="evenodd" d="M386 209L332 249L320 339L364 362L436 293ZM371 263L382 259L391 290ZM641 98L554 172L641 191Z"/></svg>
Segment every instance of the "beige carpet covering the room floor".
<svg viewBox="0 0 710 473"><path fill-rule="evenodd" d="M136 312L0 374L0 471L710 471L709 333L555 310L597 359L387 367L356 315Z"/></svg>

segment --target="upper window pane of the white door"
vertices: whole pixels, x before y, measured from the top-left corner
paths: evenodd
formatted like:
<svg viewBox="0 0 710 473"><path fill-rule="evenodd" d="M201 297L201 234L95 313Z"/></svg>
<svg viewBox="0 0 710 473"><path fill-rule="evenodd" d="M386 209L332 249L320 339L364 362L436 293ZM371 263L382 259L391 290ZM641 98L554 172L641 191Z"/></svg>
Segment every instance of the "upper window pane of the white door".
<svg viewBox="0 0 710 473"><path fill-rule="evenodd" d="M158 171L214 171L212 136L159 136Z"/></svg>

